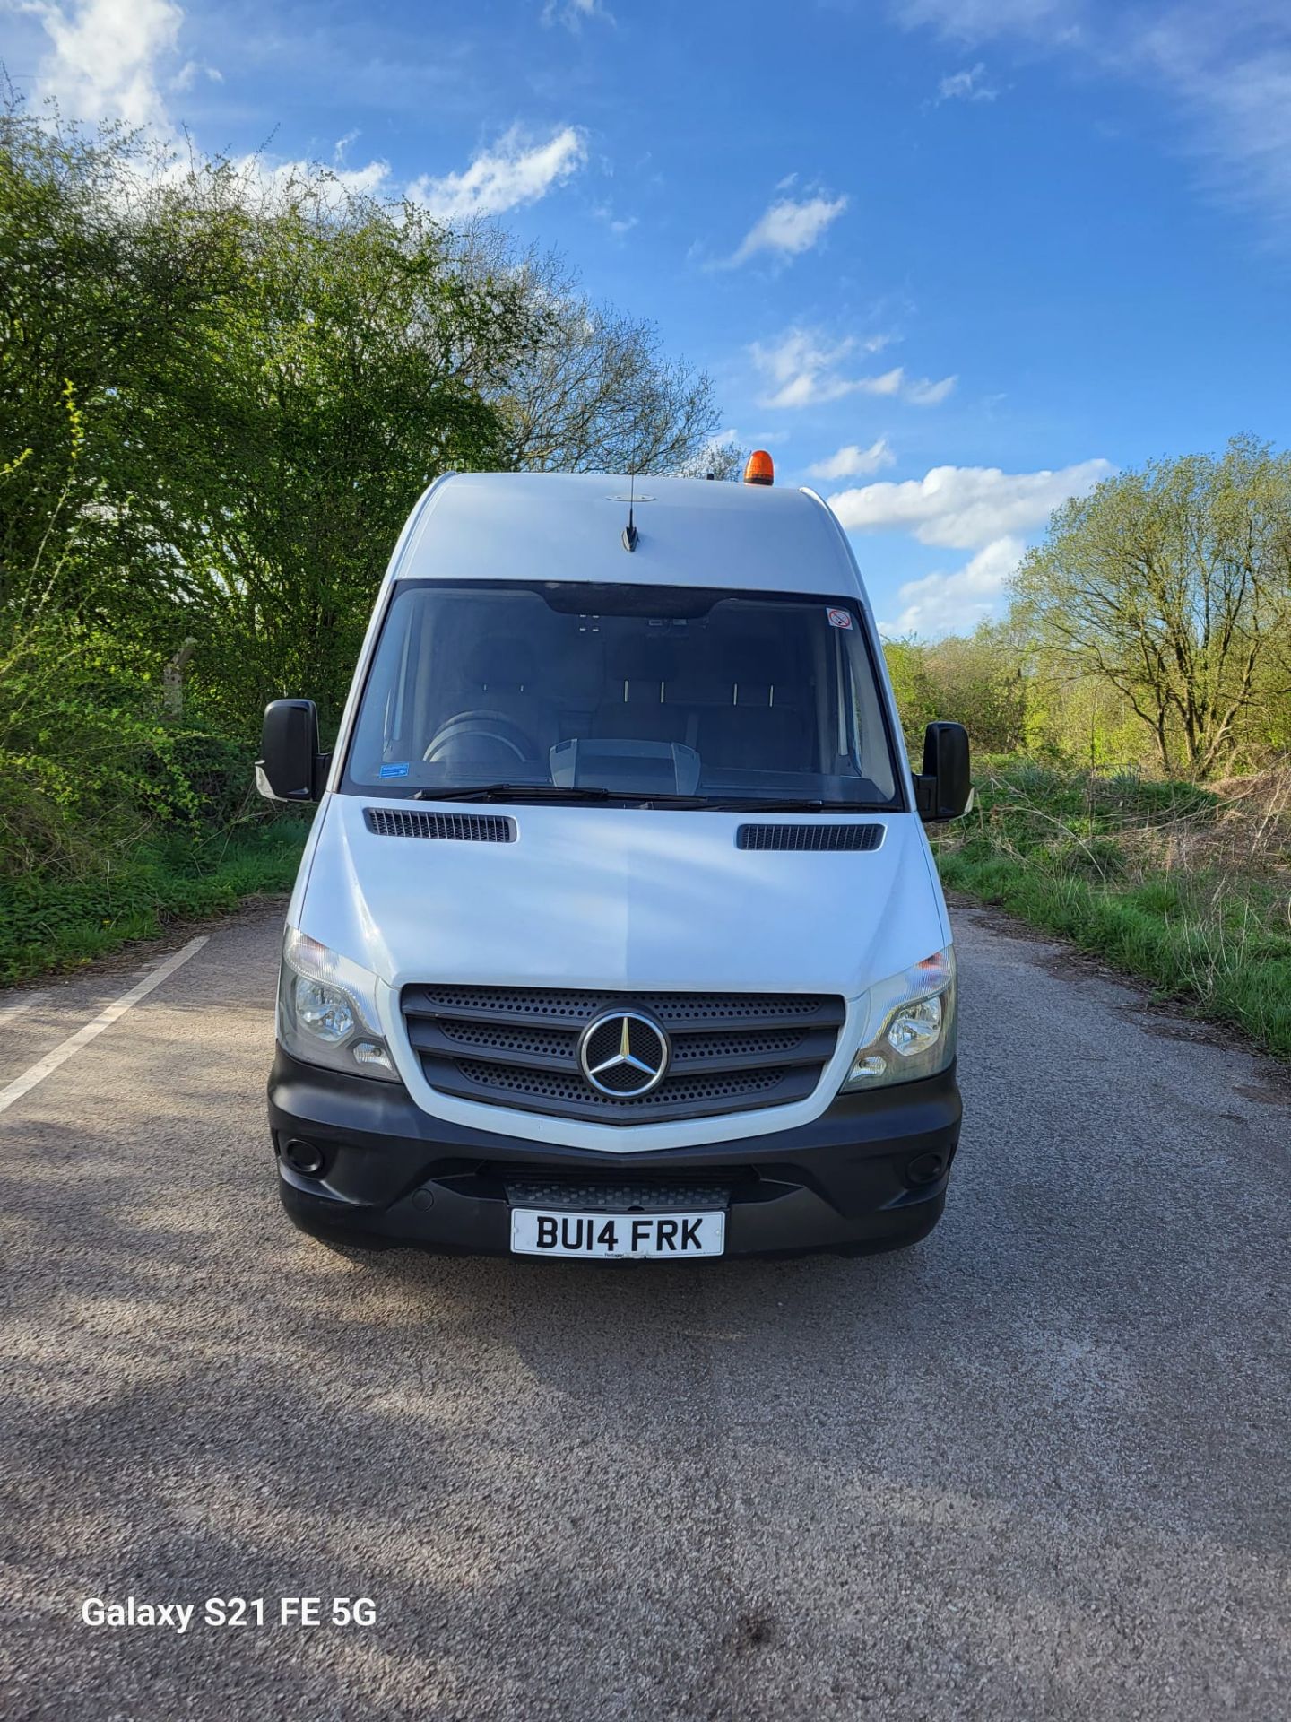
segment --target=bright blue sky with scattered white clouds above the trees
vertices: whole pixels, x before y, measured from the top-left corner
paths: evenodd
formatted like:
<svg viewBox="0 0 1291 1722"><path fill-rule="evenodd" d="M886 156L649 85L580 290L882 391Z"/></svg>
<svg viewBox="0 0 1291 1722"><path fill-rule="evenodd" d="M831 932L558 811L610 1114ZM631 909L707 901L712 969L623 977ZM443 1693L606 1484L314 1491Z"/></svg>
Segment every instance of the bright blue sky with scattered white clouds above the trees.
<svg viewBox="0 0 1291 1722"><path fill-rule="evenodd" d="M561 250L893 634L1000 613L1117 467L1288 441L1288 0L0 0L0 60Z"/></svg>

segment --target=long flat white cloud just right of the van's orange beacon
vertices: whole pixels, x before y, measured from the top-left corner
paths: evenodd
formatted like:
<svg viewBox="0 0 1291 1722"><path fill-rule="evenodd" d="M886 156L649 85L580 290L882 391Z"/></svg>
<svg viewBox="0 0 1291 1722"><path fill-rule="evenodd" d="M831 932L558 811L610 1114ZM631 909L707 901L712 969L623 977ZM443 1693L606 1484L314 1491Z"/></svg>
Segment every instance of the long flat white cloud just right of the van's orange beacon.
<svg viewBox="0 0 1291 1722"><path fill-rule="evenodd" d="M1107 460L1060 472L933 467L923 479L866 484L828 501L849 532L912 532L921 544L978 549L1043 525L1069 496L1083 496L1112 472Z"/></svg>

